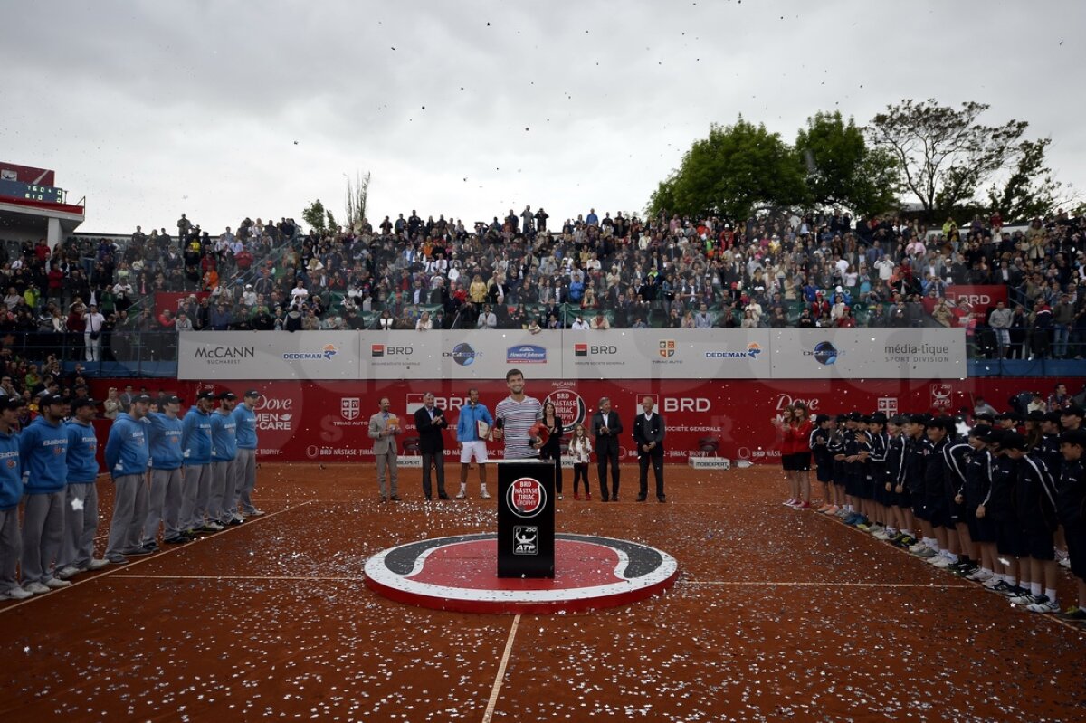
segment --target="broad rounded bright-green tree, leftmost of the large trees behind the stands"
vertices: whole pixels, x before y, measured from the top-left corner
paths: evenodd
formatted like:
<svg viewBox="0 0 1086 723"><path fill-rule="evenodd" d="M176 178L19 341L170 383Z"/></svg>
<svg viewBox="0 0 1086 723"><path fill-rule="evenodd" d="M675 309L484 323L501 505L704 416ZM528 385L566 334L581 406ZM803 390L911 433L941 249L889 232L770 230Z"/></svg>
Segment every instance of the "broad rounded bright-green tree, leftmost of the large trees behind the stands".
<svg viewBox="0 0 1086 723"><path fill-rule="evenodd" d="M708 138L694 141L679 168L653 193L648 213L740 219L805 199L803 163L793 149L765 125L741 116L733 126L712 124Z"/></svg>

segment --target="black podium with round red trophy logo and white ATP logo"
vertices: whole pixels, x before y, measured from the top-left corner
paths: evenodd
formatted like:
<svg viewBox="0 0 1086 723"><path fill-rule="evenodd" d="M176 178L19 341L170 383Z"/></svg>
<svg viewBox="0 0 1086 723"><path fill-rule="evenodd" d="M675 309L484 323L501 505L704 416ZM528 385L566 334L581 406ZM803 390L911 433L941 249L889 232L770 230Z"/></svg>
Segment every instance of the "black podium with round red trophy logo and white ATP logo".
<svg viewBox="0 0 1086 723"><path fill-rule="evenodd" d="M497 576L554 578L554 461L497 465Z"/></svg>

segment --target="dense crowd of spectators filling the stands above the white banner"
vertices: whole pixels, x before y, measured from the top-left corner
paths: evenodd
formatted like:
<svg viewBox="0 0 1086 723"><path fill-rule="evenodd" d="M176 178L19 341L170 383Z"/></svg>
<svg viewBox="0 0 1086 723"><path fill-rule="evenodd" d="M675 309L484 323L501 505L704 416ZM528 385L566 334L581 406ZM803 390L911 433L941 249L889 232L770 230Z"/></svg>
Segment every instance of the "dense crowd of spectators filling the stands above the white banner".
<svg viewBox="0 0 1086 723"><path fill-rule="evenodd" d="M8 332L67 334L94 360L102 335L186 329L609 329L963 326L982 354L1081 357L1086 218L1062 211L1007 229L998 214L929 229L830 212L738 224L594 210L552 227L542 210L476 223L417 212L376 228L304 231L245 218L211 236L24 244L2 258ZM948 301L961 284L1008 302ZM156 292L186 292L153 308ZM952 296L954 294L951 294ZM92 325L93 326L93 325ZM108 358L110 344L101 352ZM168 355L168 350L165 352Z"/></svg>

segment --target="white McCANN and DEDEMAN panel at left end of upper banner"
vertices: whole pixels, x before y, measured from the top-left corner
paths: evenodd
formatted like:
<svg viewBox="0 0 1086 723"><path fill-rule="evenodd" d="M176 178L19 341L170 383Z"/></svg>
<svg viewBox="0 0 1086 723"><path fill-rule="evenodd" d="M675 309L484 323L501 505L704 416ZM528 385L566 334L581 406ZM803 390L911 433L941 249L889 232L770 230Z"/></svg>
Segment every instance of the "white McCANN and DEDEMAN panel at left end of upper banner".
<svg viewBox="0 0 1086 723"><path fill-rule="evenodd" d="M353 332L191 331L178 338L178 379L358 379Z"/></svg>

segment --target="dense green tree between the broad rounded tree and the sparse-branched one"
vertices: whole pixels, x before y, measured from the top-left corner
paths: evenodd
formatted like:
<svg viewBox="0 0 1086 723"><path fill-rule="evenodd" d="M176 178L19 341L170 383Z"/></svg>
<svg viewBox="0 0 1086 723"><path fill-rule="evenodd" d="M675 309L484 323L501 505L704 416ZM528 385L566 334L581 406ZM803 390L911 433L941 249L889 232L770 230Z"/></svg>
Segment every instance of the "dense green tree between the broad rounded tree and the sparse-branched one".
<svg viewBox="0 0 1086 723"><path fill-rule="evenodd" d="M896 205L900 191L897 160L869 148L853 118L818 112L796 136L796 153L808 164L807 190L817 206L844 206L860 215Z"/></svg>

